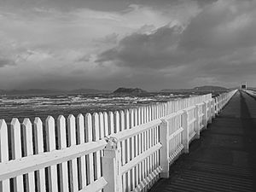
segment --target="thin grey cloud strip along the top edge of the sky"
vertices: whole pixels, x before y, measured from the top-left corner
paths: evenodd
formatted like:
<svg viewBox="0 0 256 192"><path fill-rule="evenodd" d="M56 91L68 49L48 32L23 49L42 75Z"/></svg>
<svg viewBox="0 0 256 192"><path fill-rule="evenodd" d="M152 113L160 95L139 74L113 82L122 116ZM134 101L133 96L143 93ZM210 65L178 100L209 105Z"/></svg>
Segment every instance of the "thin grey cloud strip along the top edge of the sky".
<svg viewBox="0 0 256 192"><path fill-rule="evenodd" d="M199 5L212 3L216 0L191 0L197 2ZM2 7L17 7L17 8L53 8L53 9L95 9L102 11L122 11L131 4L141 4L150 7L166 7L168 5L175 5L183 3L183 0L1 0Z"/></svg>

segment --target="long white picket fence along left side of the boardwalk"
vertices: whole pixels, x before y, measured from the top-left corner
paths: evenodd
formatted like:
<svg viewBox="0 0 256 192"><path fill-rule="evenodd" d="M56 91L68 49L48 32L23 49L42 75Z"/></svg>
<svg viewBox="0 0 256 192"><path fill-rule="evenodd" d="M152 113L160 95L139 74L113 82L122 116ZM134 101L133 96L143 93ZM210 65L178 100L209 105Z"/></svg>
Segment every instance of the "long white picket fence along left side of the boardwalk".
<svg viewBox="0 0 256 192"><path fill-rule="evenodd" d="M45 124L0 119L0 191L147 191L235 93Z"/></svg>

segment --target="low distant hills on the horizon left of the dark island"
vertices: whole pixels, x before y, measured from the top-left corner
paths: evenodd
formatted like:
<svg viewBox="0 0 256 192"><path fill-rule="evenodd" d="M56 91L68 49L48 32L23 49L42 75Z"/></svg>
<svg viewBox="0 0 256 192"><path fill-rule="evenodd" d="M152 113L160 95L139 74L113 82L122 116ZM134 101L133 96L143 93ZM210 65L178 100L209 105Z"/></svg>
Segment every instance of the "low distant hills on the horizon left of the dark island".
<svg viewBox="0 0 256 192"><path fill-rule="evenodd" d="M0 90L0 95L55 95L55 94L96 94L108 93L108 90L77 89L77 90L48 90L48 89L29 89L29 90Z"/></svg>

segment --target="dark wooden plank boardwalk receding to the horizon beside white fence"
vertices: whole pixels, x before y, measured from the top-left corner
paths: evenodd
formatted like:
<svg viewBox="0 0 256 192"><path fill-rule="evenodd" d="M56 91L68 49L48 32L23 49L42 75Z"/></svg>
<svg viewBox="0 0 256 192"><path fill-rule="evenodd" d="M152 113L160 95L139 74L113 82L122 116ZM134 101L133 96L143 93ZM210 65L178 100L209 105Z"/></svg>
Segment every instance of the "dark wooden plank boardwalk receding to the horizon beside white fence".
<svg viewBox="0 0 256 192"><path fill-rule="evenodd" d="M150 192L256 191L256 99L237 92Z"/></svg>

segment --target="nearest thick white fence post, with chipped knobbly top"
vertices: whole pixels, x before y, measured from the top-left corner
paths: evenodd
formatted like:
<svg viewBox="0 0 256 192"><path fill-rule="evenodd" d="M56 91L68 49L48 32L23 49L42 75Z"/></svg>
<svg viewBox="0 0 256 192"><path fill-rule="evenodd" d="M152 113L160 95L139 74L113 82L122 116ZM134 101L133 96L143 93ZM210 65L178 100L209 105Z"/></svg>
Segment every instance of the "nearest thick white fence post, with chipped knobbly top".
<svg viewBox="0 0 256 192"><path fill-rule="evenodd" d="M108 138L108 144L104 148L102 157L102 176L106 179L107 185L104 188L105 192L121 192L122 176L120 173L121 167L121 147L116 138Z"/></svg>

